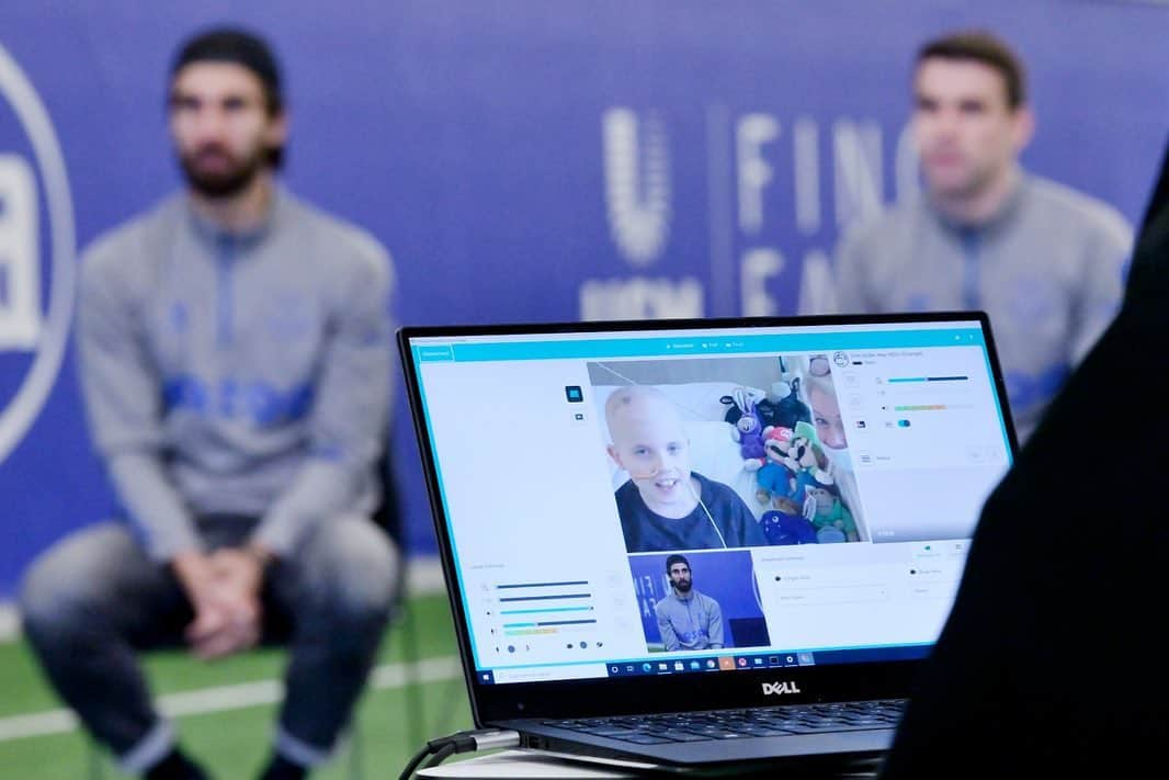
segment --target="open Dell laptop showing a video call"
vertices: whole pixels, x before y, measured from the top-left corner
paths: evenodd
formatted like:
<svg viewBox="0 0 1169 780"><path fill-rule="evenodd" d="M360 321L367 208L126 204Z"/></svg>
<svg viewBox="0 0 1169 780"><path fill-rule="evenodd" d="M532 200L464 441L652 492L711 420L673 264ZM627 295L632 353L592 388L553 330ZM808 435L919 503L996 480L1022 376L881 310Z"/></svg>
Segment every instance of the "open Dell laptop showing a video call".
<svg viewBox="0 0 1169 780"><path fill-rule="evenodd" d="M1016 439L982 312L403 327L476 726L879 757Z"/></svg>

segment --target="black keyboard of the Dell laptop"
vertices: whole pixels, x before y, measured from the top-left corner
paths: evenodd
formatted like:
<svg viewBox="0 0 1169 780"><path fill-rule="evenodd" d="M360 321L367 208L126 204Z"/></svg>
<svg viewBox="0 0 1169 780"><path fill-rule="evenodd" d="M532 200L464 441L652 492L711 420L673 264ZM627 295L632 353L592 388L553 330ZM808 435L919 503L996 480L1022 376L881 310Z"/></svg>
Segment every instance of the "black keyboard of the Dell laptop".
<svg viewBox="0 0 1169 780"><path fill-rule="evenodd" d="M749 710L545 720L544 725L638 745L658 745L707 739L892 729L901 719L905 704L906 699L796 704Z"/></svg>

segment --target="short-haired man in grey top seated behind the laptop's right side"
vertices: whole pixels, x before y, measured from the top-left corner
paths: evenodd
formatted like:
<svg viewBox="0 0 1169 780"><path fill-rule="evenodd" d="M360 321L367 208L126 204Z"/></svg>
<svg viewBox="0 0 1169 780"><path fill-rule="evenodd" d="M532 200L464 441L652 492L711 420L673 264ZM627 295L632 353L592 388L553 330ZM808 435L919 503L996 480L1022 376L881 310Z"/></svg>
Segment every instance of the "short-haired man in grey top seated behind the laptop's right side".
<svg viewBox="0 0 1169 780"><path fill-rule="evenodd" d="M1026 440L1119 309L1132 229L1114 208L1019 167L1035 119L1023 65L998 39L929 41L913 92L926 192L844 236L837 308L987 311Z"/></svg>

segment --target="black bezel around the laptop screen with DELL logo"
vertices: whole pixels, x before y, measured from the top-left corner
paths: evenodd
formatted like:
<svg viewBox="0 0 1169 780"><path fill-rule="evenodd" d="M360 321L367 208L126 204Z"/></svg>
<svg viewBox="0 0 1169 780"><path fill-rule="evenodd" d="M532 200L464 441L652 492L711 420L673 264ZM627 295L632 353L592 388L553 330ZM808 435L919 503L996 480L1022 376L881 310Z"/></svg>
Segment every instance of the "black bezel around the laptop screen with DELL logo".
<svg viewBox="0 0 1169 780"><path fill-rule="evenodd" d="M403 326L397 343L406 378L410 415L423 465L431 518L438 541L443 574L455 619L455 634L476 725L484 726L514 718L573 718L719 710L810 702L848 702L908 696L914 674L924 658L858 662L780 669L736 670L734 672L687 672L664 676L600 677L541 683L491 684L478 679L471 649L470 626L458 592L452 558L452 540L443 509L434 453L427 435L421 403L421 385L414 364L411 340L479 336L527 336L547 333L596 333L623 331L686 331L714 329L791 327L823 325L901 325L946 322L977 322L983 333L991 380L1003 410L1003 426L1011 450L1018 450L1011 422L1007 387L998 364L989 317L982 311L946 311L895 315L831 315L807 317L712 318L665 320L611 320L589 323L521 323L496 325ZM791 691L776 698L765 695L763 683L787 682ZM775 691L774 686L768 690Z"/></svg>

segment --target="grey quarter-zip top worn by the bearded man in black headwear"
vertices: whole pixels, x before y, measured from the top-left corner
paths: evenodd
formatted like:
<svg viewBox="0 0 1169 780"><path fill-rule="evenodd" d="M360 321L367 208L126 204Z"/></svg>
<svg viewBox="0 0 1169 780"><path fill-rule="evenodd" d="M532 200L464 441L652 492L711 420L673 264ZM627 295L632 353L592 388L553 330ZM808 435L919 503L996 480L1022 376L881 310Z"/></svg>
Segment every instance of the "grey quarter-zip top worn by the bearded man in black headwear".
<svg viewBox="0 0 1169 780"><path fill-rule="evenodd" d="M286 554L379 499L393 267L362 230L275 189L228 233L186 195L82 261L77 347L95 446L148 554L198 550L195 518L260 518Z"/></svg>

